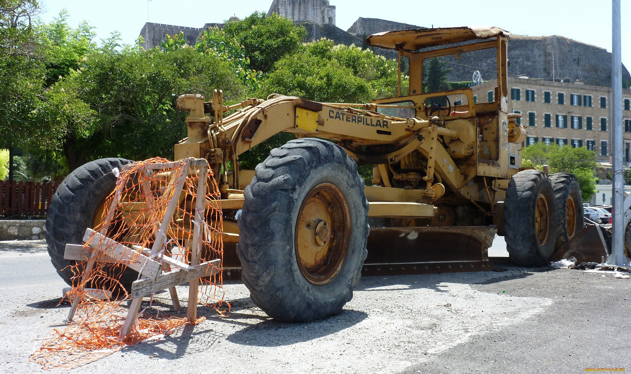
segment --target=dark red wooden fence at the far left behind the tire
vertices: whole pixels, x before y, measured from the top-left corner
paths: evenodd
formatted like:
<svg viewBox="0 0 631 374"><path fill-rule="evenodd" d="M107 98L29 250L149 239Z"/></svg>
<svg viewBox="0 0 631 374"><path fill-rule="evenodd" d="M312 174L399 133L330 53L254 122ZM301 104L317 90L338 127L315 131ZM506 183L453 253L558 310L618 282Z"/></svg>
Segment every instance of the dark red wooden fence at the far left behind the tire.
<svg viewBox="0 0 631 374"><path fill-rule="evenodd" d="M46 215L52 194L58 186L58 183L0 181L0 216L23 218Z"/></svg>

